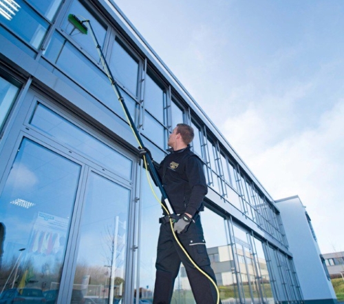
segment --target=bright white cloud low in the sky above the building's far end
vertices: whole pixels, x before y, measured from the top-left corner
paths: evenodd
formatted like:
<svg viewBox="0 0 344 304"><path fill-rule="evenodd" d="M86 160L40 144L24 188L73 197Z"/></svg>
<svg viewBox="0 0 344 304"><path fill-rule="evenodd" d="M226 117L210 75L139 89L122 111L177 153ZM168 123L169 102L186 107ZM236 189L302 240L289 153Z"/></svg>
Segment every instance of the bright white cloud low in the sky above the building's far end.
<svg viewBox="0 0 344 304"><path fill-rule="evenodd" d="M344 214L341 195L344 183L343 117L344 100L341 100L321 116L317 128L293 133L266 150L261 150L259 141L264 140L268 124L257 110L248 110L235 119L243 120L242 128L235 136L235 131L227 134L228 138L232 136L234 148L250 150L244 161L274 199L300 196L308 207L323 252L332 252L334 247L343 250L343 244L338 243L341 239L338 223ZM257 140L242 140L255 136Z"/></svg>

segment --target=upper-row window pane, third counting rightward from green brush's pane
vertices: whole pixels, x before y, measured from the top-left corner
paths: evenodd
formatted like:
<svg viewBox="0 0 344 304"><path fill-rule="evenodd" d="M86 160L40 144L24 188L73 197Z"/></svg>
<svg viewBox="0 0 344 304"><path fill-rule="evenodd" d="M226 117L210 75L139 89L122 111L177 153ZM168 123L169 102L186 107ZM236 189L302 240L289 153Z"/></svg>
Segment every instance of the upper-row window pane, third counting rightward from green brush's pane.
<svg viewBox="0 0 344 304"><path fill-rule="evenodd" d="M144 106L155 119L160 122L164 122L164 90L151 79L147 74L146 77L146 93L144 95Z"/></svg>

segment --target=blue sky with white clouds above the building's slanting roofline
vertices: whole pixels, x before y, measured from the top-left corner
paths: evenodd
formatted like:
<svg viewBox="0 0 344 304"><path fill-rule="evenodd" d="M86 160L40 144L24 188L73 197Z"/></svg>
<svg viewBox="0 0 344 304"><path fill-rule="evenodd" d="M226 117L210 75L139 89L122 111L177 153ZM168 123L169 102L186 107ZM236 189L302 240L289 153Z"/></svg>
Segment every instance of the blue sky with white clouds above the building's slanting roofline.
<svg viewBox="0 0 344 304"><path fill-rule="evenodd" d="M344 1L116 0L272 198L344 251Z"/></svg>

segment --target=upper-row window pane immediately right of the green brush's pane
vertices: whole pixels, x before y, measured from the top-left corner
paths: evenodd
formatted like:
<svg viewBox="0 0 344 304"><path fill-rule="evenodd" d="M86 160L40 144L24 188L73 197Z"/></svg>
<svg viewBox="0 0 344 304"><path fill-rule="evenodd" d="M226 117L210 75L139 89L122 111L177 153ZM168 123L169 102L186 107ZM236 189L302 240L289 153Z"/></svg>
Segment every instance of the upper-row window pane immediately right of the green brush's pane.
<svg viewBox="0 0 344 304"><path fill-rule="evenodd" d="M114 40L109 66L113 76L136 96L138 91L138 60L134 59L117 39Z"/></svg>

